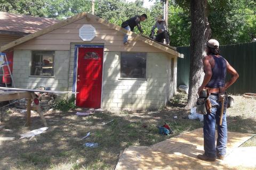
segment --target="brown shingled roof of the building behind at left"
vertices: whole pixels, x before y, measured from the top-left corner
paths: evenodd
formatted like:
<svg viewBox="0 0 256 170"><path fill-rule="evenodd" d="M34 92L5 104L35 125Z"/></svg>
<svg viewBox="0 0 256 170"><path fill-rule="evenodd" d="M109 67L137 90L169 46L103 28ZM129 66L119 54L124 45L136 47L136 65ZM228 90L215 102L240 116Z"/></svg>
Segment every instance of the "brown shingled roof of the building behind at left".
<svg viewBox="0 0 256 170"><path fill-rule="evenodd" d="M0 12L0 33L25 36L53 25L58 20Z"/></svg>

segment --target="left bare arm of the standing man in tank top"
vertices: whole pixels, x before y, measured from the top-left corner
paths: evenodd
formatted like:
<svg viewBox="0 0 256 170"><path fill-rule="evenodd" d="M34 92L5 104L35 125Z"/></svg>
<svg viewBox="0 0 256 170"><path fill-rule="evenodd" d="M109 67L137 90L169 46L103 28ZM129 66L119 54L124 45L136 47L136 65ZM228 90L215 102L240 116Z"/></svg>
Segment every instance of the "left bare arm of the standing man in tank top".
<svg viewBox="0 0 256 170"><path fill-rule="evenodd" d="M204 74L203 83L197 91L198 95L204 89L204 87L209 83L209 81L211 80L211 77L212 77L212 67L211 67L208 56L203 58L203 65L204 65L204 73L205 74Z"/></svg>

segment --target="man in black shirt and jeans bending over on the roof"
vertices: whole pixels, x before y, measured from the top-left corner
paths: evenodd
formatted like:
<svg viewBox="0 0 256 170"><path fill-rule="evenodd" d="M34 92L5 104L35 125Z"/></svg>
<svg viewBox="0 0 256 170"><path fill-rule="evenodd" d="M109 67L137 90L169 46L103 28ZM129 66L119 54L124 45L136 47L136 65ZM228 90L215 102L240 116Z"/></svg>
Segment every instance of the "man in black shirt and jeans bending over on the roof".
<svg viewBox="0 0 256 170"><path fill-rule="evenodd" d="M140 33L143 33L143 31L141 30L140 21L145 21L147 18L148 17L146 14L142 14L140 16L136 15L133 18L124 21L121 26L128 31L133 31L134 27L137 26ZM128 44L128 35L124 35L124 44Z"/></svg>

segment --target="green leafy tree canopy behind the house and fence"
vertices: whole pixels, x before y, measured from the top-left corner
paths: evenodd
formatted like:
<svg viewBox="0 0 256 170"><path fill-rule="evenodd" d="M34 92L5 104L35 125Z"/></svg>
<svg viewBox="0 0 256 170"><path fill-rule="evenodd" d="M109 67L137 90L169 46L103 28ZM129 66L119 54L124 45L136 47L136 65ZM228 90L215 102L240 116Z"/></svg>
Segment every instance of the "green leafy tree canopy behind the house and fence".
<svg viewBox="0 0 256 170"><path fill-rule="evenodd" d="M212 38L220 44L247 43L256 37L255 0L208 0L207 5ZM80 12L91 12L91 0L0 0L0 11L63 20ZM141 23L142 30L149 35L155 17L163 14L163 0L156 0L149 9L143 7L143 0L95 0L95 15L117 25L142 13L148 15ZM190 0L169 0L168 27L172 46L189 45Z"/></svg>

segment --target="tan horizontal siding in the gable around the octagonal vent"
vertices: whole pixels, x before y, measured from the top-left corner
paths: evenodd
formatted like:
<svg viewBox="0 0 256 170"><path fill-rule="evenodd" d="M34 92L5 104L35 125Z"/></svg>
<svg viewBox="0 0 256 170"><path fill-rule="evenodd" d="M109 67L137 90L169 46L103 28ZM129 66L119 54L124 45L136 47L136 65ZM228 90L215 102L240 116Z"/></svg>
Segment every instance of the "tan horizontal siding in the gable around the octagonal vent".
<svg viewBox="0 0 256 170"><path fill-rule="evenodd" d="M91 24L96 32L92 41L83 41L79 37L79 28L84 24ZM14 49L43 49L43 50L69 50L71 43L104 44L105 51L114 52L162 52L162 50L149 46L142 41L137 41L129 36L130 43L123 45L124 33L115 29L109 29L106 25L98 23L94 19L80 19L65 25L59 29L46 33L23 43Z"/></svg>

